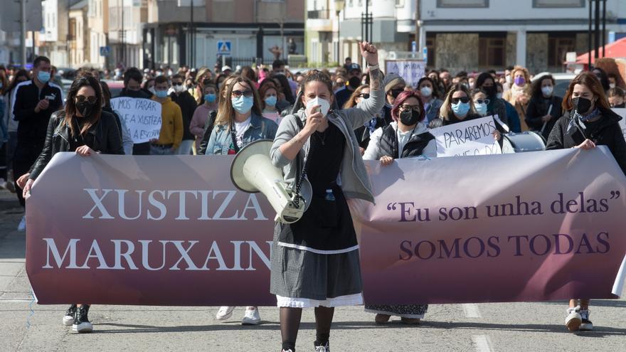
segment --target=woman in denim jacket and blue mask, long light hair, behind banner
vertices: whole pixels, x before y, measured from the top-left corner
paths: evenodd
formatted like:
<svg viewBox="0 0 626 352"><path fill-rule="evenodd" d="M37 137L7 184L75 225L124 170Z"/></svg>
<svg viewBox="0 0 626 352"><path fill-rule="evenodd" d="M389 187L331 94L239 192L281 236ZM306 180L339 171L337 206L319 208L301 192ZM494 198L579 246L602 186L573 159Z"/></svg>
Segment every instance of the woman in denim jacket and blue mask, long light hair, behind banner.
<svg viewBox="0 0 626 352"><path fill-rule="evenodd" d="M250 142L274 139L278 126L262 117L258 92L248 78L231 80L226 97L230 99L218 110L206 155L237 154Z"/></svg>

